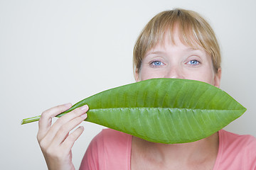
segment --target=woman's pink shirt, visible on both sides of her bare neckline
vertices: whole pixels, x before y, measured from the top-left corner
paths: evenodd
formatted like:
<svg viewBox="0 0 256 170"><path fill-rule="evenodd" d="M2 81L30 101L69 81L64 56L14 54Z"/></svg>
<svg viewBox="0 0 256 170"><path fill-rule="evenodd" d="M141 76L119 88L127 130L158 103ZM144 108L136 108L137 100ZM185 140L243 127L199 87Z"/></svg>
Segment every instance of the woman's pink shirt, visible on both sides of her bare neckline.
<svg viewBox="0 0 256 170"><path fill-rule="evenodd" d="M220 130L213 170L256 170L256 138ZM130 170L132 135L102 130L90 143L80 169Z"/></svg>

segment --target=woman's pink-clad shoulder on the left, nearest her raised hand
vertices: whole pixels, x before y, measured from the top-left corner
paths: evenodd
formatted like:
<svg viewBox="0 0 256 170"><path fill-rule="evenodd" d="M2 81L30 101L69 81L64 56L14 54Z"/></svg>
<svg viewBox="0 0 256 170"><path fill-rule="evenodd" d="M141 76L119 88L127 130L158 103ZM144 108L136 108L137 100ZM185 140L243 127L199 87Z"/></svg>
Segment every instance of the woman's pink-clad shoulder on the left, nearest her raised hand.
<svg viewBox="0 0 256 170"><path fill-rule="evenodd" d="M104 129L97 134L85 152L81 167L84 169L112 169L125 166L129 162L132 135L112 129Z"/></svg>

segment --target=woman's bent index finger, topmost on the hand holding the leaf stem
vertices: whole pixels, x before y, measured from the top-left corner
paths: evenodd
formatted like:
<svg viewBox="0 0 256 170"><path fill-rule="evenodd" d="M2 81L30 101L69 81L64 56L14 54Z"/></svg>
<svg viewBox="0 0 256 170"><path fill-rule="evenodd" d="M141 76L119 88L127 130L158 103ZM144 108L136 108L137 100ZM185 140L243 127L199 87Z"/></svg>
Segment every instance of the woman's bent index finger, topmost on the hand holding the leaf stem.
<svg viewBox="0 0 256 170"><path fill-rule="evenodd" d="M60 113L63 113L64 111L67 111L71 106L71 103L67 103L64 105L55 106L42 113L38 122L38 140L41 140L50 129L52 118Z"/></svg>

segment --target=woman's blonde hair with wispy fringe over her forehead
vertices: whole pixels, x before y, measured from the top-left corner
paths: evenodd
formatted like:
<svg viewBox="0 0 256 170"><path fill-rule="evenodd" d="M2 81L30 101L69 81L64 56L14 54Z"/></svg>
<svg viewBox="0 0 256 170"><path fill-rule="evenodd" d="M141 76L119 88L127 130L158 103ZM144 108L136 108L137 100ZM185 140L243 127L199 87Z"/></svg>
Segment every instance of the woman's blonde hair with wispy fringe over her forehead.
<svg viewBox="0 0 256 170"><path fill-rule="evenodd" d="M203 50L212 58L215 73L218 73L221 60L220 47L213 29L198 13L181 8L158 13L146 24L134 45L134 71L139 72L146 52L157 43L163 42L166 33L172 35L176 26L178 26L181 42L191 47L198 45L203 47ZM172 36L171 42L175 44Z"/></svg>

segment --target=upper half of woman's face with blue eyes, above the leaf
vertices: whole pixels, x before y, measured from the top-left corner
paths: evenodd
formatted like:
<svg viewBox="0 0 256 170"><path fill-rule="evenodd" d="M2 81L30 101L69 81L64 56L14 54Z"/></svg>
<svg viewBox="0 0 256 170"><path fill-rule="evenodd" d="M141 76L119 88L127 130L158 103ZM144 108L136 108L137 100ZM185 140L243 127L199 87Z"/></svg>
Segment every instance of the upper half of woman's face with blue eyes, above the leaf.
<svg viewBox="0 0 256 170"><path fill-rule="evenodd" d="M168 35L165 35L163 43L159 43L146 53L140 72L136 73L136 80L193 79L219 87L221 70L215 74L211 57L203 48L193 49L183 45L177 32L174 33L174 41L175 45Z"/></svg>

